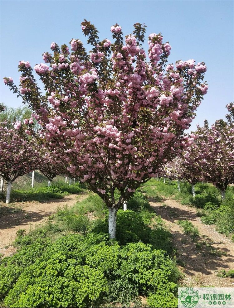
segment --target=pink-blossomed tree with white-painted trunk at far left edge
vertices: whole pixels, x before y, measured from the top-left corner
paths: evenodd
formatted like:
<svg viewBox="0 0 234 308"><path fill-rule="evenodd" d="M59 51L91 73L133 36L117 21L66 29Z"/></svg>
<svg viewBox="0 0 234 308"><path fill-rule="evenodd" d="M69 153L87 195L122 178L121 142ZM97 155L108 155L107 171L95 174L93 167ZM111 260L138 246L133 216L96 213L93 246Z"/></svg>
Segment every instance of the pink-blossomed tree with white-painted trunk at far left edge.
<svg viewBox="0 0 234 308"><path fill-rule="evenodd" d="M10 202L12 182L38 164L36 139L25 133L23 125L20 121L12 123L12 127L7 121L0 123L0 175L7 181L6 203Z"/></svg>

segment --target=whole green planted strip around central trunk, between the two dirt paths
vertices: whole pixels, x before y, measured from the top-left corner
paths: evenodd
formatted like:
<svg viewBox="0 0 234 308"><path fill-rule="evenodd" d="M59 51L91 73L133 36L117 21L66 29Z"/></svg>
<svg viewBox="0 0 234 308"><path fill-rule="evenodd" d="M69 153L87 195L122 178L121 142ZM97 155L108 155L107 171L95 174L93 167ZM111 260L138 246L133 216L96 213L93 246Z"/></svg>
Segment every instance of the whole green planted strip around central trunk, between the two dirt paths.
<svg viewBox="0 0 234 308"><path fill-rule="evenodd" d="M117 214L116 240L109 239L108 209L93 194L89 209L102 213L95 220L85 214L88 202L83 200L71 209L58 209L28 234L18 231L17 253L0 264L4 305L129 306L139 304L142 295L151 307L176 307L180 274L170 256L170 233L149 211L145 196L135 196L136 211Z"/></svg>

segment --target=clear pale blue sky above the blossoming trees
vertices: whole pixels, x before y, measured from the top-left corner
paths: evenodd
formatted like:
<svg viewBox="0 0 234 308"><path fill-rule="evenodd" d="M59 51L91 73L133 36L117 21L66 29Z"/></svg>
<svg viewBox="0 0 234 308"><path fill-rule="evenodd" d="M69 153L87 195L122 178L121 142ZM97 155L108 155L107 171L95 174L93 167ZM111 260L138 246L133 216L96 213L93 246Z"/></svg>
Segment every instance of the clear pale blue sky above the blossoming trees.
<svg viewBox="0 0 234 308"><path fill-rule="evenodd" d="M169 63L195 59L207 65L209 90L197 110L192 129L204 119L213 123L224 118L225 105L234 100L233 1L11 1L1 0L1 80L12 77L18 84L18 62L43 62L51 42L69 44L72 38L85 42L80 23L89 20L100 38L111 39L110 26L116 22L124 35L135 22L145 23L148 36L161 32L172 46ZM147 48L147 46L146 46ZM3 82L1 102L21 106Z"/></svg>

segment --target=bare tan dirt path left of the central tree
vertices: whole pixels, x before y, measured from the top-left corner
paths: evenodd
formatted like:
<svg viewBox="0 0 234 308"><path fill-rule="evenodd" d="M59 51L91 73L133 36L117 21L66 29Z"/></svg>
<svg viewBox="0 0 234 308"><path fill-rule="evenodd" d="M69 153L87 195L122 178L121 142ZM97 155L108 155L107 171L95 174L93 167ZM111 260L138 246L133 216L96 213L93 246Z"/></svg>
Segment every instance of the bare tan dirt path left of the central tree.
<svg viewBox="0 0 234 308"><path fill-rule="evenodd" d="M29 230L36 224L44 222L48 216L56 212L59 206L71 207L76 201L81 201L86 197L87 194L81 194L68 195L62 199L51 199L45 203L38 201L15 202L9 205L0 203L0 253L7 256L15 252L16 249L9 245L16 238L19 229Z"/></svg>

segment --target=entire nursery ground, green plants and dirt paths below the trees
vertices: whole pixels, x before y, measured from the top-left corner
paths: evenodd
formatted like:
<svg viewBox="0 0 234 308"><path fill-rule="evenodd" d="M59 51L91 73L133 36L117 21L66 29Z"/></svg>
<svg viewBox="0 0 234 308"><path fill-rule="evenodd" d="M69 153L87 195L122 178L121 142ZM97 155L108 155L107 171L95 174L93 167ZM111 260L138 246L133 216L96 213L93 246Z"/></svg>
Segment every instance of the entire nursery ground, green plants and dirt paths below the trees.
<svg viewBox="0 0 234 308"><path fill-rule="evenodd" d="M118 211L110 240L104 202L67 186L1 204L1 306L177 307L178 286L233 286L234 187L222 201L211 184L197 183L193 198L187 182L178 192L151 179Z"/></svg>

